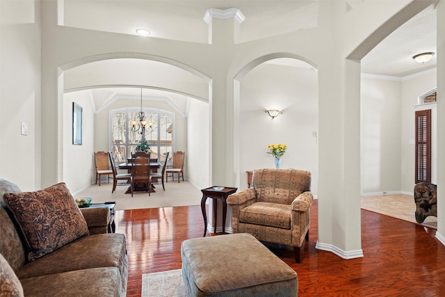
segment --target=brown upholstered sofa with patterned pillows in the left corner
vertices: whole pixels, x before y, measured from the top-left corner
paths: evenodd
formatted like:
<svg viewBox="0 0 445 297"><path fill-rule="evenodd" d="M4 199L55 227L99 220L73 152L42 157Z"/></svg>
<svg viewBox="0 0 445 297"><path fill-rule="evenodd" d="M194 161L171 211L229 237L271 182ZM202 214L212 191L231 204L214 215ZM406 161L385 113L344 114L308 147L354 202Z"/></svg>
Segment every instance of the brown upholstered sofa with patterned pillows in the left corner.
<svg viewBox="0 0 445 297"><path fill-rule="evenodd" d="M0 296L126 296L126 239L108 217L63 183L23 193L0 179Z"/></svg>

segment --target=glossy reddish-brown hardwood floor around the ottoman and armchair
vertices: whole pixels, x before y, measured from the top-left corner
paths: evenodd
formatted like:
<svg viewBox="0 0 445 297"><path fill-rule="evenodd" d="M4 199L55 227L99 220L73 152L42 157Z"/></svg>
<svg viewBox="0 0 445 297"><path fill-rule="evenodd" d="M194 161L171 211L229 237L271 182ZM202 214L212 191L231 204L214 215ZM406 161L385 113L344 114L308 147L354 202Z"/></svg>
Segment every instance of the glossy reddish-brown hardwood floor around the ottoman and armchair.
<svg viewBox="0 0 445 297"><path fill-rule="evenodd" d="M445 247L435 230L362 210L364 257L341 259L316 250L317 200L302 263L291 247L268 244L298 273L298 296L444 296ZM202 236L200 206L118 211L117 232L127 236L127 296L140 296L143 273L181 268L181 242Z"/></svg>

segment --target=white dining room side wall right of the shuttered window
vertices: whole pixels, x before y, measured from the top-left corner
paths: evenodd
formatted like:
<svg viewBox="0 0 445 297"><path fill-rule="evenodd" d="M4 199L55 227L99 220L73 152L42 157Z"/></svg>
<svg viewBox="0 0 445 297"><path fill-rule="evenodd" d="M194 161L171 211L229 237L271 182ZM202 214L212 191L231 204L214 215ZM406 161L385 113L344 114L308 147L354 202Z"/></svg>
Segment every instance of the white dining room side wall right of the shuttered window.
<svg viewBox="0 0 445 297"><path fill-rule="evenodd" d="M198 188L211 186L209 179L209 104L189 99L187 115L187 165L188 180Z"/></svg>

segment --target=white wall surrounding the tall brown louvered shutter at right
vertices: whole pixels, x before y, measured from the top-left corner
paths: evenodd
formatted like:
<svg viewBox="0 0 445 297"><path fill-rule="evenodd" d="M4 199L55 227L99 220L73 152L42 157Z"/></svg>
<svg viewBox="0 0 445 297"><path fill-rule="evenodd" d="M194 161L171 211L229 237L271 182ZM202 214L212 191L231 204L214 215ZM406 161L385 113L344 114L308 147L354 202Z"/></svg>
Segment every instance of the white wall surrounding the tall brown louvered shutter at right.
<svg viewBox="0 0 445 297"><path fill-rule="evenodd" d="M415 130L414 130L414 113L416 110L420 110L416 108L418 104L418 97L432 90L433 88L437 88L437 74L436 72L429 73L421 76L414 76L411 79L405 79L402 83L403 93L402 93L402 131L401 131L401 155L402 155L402 184L401 191L403 193L413 193L414 184L415 184L415 145L410 144L410 141L414 141L415 138ZM421 108L424 109L424 108ZM437 144L437 136L436 136L436 112L435 107L432 109L432 182L435 182L437 177L437 168L435 164L437 163L436 156L436 144Z"/></svg>

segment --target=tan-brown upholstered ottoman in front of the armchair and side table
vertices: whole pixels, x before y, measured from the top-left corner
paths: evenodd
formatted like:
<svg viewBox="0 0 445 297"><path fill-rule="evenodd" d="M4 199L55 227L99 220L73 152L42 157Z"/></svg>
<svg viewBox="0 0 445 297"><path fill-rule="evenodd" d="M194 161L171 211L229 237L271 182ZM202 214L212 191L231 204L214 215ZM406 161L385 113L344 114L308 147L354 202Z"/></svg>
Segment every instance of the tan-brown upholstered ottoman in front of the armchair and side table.
<svg viewBox="0 0 445 297"><path fill-rule="evenodd" d="M181 258L188 297L298 295L297 273L247 233L188 239Z"/></svg>

